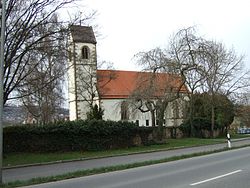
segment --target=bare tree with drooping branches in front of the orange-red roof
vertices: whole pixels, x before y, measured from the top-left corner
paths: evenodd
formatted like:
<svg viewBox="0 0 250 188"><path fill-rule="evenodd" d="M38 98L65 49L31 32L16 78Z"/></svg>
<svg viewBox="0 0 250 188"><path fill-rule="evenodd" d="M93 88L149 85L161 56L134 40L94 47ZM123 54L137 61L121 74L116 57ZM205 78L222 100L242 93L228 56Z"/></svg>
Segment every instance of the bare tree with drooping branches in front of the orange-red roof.
<svg viewBox="0 0 250 188"><path fill-rule="evenodd" d="M153 126L155 119L158 120L159 129L161 129L167 107L179 99L185 90L184 80L177 74L176 62L159 48L141 52L136 57L137 62L143 65L146 72L142 72L138 77L138 88L131 98L137 101L137 109L143 113L151 113ZM159 131L159 133L162 132ZM161 137L162 135L159 135L160 139Z"/></svg>

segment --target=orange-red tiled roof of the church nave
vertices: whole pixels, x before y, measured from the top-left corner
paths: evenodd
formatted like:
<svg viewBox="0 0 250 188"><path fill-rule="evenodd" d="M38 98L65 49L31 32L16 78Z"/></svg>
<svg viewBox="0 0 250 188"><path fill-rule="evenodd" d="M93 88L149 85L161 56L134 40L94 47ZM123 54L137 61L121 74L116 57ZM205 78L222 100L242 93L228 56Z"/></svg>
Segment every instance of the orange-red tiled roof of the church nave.
<svg viewBox="0 0 250 188"><path fill-rule="evenodd" d="M157 86L154 96L162 96L166 93L167 88L177 90L181 86L181 78L176 75L167 73L150 73L136 71L119 71L119 70L97 70L98 90L102 99L124 99L128 98L138 89L149 89L150 80L155 76L153 86ZM181 92L187 92L183 85Z"/></svg>

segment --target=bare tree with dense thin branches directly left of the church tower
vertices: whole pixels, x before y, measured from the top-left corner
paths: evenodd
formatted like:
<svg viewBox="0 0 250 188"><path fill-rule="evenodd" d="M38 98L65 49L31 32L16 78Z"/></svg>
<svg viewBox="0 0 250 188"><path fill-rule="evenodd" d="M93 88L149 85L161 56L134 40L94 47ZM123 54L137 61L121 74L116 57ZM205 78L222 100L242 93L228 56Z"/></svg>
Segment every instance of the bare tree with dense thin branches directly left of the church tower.
<svg viewBox="0 0 250 188"><path fill-rule="evenodd" d="M52 32L60 26L57 16L51 19L54 20L54 24L47 28L41 27L39 32L45 32L44 30ZM63 100L66 40L62 33L58 33L57 36L57 40L51 39L50 36L44 38L43 43L33 51L36 53L32 54L28 67L32 68L32 72L23 79L22 86L17 88L26 110L41 124L55 119L55 114Z"/></svg>

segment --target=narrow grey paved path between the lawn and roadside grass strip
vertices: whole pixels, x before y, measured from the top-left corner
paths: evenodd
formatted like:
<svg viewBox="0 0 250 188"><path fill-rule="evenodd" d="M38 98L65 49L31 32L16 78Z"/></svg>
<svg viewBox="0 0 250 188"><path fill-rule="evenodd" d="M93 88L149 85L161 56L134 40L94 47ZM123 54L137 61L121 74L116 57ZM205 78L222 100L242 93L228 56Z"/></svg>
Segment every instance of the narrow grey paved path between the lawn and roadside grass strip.
<svg viewBox="0 0 250 188"><path fill-rule="evenodd" d="M232 147L238 147L244 145L250 145L250 138L232 140ZM182 148L182 149L159 151L152 153L90 159L83 161L71 161L66 163L62 162L62 163L45 164L38 166L27 166L21 168L20 167L10 168L3 170L3 181L6 183L16 180L29 180L36 177L55 176L78 170L114 166L119 164L129 164L129 163L143 162L149 160L157 160L157 159L170 158L174 156L181 156L181 155L194 154L200 152L209 152L218 149L223 149L225 147L227 147L226 140L225 144L215 144L215 145Z"/></svg>

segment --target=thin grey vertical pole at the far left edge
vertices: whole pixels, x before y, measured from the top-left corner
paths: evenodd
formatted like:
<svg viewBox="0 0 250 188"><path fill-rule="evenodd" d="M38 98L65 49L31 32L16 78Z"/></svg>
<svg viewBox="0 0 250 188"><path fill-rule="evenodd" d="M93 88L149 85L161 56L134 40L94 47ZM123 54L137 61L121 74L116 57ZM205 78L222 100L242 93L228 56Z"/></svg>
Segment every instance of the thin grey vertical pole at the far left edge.
<svg viewBox="0 0 250 188"><path fill-rule="evenodd" d="M3 65L5 41L5 10L6 0L1 0L1 47L0 47L0 184L3 183Z"/></svg>

